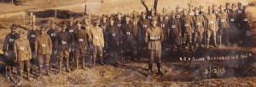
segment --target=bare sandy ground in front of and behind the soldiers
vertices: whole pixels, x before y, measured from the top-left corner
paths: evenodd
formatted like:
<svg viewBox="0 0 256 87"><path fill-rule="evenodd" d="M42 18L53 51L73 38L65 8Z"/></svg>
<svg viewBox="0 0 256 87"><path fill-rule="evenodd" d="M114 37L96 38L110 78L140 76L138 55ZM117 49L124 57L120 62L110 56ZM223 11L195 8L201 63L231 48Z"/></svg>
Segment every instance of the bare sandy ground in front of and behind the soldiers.
<svg viewBox="0 0 256 87"><path fill-rule="evenodd" d="M46 1L46 0L45 0ZM50 0L51 1L51 0ZM103 2L102 2L103 1ZM241 3L247 4L253 0L241 0ZM146 0L148 8L153 7L153 0ZM181 7L187 7L187 3L203 4L205 6L212 3L221 3L224 5L223 0L205 1L205 0L159 0L159 9L168 8L171 12L177 4ZM230 1L230 3L237 3L237 1ZM4 17L0 19L0 41L3 43L4 36L9 33L9 24L17 23L24 24L22 14L29 12L38 13L38 20L54 19L52 14L47 14L45 17L39 16L44 13L44 9L60 9L69 10L73 13L84 13L84 5L87 5L87 13L93 15L102 14L122 14L131 13L133 10L137 12L145 11L140 0L52 0L43 2L42 0L35 0L25 3L24 6L14 6L8 3L0 3L0 15L8 14L15 15L12 17ZM253 10L251 8L250 10ZM38 11L42 11L39 13ZM20 13L20 14L17 14ZM254 13L253 13L254 14ZM27 15L26 15L27 17ZM61 21L61 19L57 19ZM26 22L28 20L26 19ZM253 29L255 30L255 29ZM2 46L0 46L1 48ZM241 55L243 53L252 53L253 57L238 60L224 60L224 61L204 61L204 62L184 62L180 57L207 57L207 56L233 56ZM214 87L214 86L256 86L256 63L255 55L256 49L253 46L240 47L229 46L220 47L219 49L201 50L201 52L188 53L184 52L183 55L176 53L163 53L162 69L165 76L156 74L157 68L154 64L154 73L151 77L147 77L147 58L140 61L133 60L133 58L126 57L126 63L119 66L96 66L96 68L86 68L85 70L71 73L55 74L55 68L51 69L51 76L44 76L42 79L36 79L35 71L32 73L32 82L24 81L22 86L30 87L44 87L44 86L113 86L113 87ZM3 57L0 58L0 65L3 65ZM224 68L225 73L206 73L209 68ZM15 86L16 77L6 79L3 67L0 68L0 84L3 87ZM214 70L213 70L214 71ZM15 71L14 71L15 72ZM25 77L26 79L26 77Z"/></svg>

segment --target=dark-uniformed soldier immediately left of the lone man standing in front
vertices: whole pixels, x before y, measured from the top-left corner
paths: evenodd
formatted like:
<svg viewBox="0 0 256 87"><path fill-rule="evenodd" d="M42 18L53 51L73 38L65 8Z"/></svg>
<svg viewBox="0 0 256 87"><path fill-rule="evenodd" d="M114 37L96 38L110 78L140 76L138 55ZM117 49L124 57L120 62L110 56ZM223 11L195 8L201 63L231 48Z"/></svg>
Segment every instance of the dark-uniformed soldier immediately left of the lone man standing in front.
<svg viewBox="0 0 256 87"><path fill-rule="evenodd" d="M137 23L137 36L138 36L138 51L139 51L139 57L143 57L144 53L146 52L146 43L144 40L144 36L146 33L146 29L149 27L150 21L146 18L146 14L142 12L141 19Z"/></svg>

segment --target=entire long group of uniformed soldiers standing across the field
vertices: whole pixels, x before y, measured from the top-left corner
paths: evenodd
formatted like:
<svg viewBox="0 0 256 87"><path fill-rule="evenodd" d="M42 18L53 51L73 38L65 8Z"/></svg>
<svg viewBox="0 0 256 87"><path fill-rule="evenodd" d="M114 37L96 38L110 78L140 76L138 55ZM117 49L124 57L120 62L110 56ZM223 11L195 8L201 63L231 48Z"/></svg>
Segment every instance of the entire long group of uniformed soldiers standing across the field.
<svg viewBox="0 0 256 87"><path fill-rule="evenodd" d="M161 70L161 52L195 51L197 48L208 48L213 38L213 46L230 46L239 43L252 27L251 19L247 18L247 6L237 3L226 3L225 8L220 5L207 8L203 6L181 8L176 12L157 14L154 9L150 12L137 14L102 14L92 24L86 16L84 19L69 19L56 24L39 25L35 23L25 27L12 24L11 33L6 35L3 45L7 68L11 73L13 66L19 63L20 82L23 79L24 64L27 78L30 78L30 60L37 59L39 74L43 75L44 63L46 74L49 75L51 63L58 66L58 73L62 72L62 61L65 59L67 72L70 72L70 63L74 64L74 71L79 69L82 59L82 68L85 60L90 58L90 68L96 66L96 57L100 57L100 64L125 63L125 58L140 59L148 57L148 75L152 73L152 64L156 60L158 74L164 75ZM60 26L61 28L57 27ZM16 29L21 28L19 33ZM26 34L26 31L28 33ZM26 35L26 36L25 36ZM239 38L241 37L241 38ZM205 46L203 46L205 44ZM162 47L163 46L163 47ZM70 62L72 60L72 62Z"/></svg>

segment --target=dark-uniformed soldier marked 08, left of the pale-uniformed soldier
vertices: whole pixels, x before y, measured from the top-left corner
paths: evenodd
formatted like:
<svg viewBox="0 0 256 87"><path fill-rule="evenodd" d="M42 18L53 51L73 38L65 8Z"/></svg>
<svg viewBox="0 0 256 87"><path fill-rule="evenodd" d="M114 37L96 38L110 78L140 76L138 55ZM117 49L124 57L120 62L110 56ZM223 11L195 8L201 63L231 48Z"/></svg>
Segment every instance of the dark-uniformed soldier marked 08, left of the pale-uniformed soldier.
<svg viewBox="0 0 256 87"><path fill-rule="evenodd" d="M87 45L89 44L89 34L85 31L85 27L80 24L79 21L77 21L78 30L74 31L74 52L75 52L75 63L76 63L76 69L79 69L79 58L81 57L83 59L82 61L82 68L84 67L84 61L86 58L87 53Z"/></svg>

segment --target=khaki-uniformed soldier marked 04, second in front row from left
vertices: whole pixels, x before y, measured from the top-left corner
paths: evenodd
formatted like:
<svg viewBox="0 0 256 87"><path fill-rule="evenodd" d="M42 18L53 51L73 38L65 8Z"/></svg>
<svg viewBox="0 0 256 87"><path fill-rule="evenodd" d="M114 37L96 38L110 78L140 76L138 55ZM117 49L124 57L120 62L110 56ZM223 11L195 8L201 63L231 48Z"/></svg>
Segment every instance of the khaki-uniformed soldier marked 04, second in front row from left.
<svg viewBox="0 0 256 87"><path fill-rule="evenodd" d="M46 74L49 75L49 60L52 52L52 41L49 35L45 32L46 28L41 27L41 33L38 35L35 41L35 52L38 57L39 75L38 78L42 77L43 65L46 65Z"/></svg>

